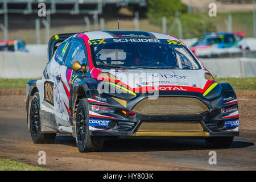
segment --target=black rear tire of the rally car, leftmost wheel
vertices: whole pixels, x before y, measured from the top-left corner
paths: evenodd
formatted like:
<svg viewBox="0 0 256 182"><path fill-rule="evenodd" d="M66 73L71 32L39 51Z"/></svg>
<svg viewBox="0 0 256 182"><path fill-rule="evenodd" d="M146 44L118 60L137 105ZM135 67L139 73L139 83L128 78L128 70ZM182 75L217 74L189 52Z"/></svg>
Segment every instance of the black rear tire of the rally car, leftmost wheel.
<svg viewBox="0 0 256 182"><path fill-rule="evenodd" d="M36 92L30 105L30 134L34 143L53 143L56 133L42 133L40 120L40 97Z"/></svg>

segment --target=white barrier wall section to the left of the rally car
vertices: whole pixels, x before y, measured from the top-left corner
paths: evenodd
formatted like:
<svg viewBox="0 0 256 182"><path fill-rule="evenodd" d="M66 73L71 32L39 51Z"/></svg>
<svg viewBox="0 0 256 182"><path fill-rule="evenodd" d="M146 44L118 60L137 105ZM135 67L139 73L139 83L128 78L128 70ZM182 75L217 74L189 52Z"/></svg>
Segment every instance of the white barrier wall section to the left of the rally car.
<svg viewBox="0 0 256 182"><path fill-rule="evenodd" d="M27 52L0 52L1 78L40 78L47 64L47 55Z"/></svg>

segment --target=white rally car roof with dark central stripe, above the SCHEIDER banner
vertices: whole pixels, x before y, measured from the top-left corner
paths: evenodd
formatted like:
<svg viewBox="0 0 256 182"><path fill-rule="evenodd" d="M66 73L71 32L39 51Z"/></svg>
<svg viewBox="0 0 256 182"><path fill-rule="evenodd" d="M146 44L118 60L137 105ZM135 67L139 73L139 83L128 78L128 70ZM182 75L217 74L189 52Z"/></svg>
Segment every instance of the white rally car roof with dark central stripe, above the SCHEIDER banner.
<svg viewBox="0 0 256 182"><path fill-rule="evenodd" d="M92 31L92 32L84 32L84 34L88 36L89 40L113 39L113 38L133 38L133 39L152 38L152 39L178 40L171 35L159 34L155 32L143 32L143 31Z"/></svg>

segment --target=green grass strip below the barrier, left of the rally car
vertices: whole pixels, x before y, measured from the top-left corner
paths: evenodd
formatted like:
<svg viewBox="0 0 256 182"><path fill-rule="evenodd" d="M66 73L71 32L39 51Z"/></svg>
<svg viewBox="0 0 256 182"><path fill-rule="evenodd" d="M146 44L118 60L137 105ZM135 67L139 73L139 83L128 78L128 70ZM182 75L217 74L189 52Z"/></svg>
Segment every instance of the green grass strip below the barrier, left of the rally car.
<svg viewBox="0 0 256 182"><path fill-rule="evenodd" d="M0 89L26 88L31 78L0 78Z"/></svg>

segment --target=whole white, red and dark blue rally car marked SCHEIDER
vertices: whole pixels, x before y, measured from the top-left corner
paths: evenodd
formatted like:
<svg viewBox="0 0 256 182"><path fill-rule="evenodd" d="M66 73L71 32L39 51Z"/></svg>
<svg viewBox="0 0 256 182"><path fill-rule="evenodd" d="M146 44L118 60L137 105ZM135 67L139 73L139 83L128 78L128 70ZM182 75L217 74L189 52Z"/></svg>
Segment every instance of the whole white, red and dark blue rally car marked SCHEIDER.
<svg viewBox="0 0 256 182"><path fill-rule="evenodd" d="M79 151L106 136L193 137L229 147L239 135L237 97L180 40L94 31L52 36L42 80L27 82L34 143L72 134Z"/></svg>

